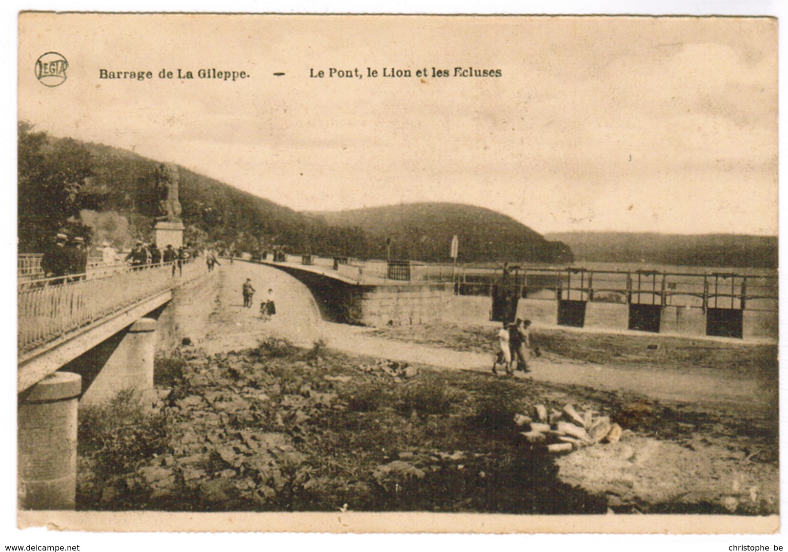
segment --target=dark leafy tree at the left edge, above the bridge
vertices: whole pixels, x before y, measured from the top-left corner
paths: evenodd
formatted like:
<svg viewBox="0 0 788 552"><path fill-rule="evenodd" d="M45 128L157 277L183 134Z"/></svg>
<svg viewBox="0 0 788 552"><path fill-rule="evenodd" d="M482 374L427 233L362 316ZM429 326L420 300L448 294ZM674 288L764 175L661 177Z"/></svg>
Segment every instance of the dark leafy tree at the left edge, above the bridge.
<svg viewBox="0 0 788 552"><path fill-rule="evenodd" d="M50 144L46 132L33 132L27 121L20 121L17 131L19 246L43 251L54 234L78 219L80 192L93 174L93 161L80 143L61 139Z"/></svg>

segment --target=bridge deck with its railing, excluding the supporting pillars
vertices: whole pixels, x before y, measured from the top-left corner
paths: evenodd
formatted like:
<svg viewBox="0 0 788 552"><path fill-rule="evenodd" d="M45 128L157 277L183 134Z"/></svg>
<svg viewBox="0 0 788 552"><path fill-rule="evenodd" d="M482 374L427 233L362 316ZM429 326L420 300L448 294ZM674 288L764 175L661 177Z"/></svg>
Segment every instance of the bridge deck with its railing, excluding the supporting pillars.
<svg viewBox="0 0 788 552"><path fill-rule="evenodd" d="M164 305L173 290L206 273L199 262L173 265L117 265L65 279L20 280L17 392Z"/></svg>

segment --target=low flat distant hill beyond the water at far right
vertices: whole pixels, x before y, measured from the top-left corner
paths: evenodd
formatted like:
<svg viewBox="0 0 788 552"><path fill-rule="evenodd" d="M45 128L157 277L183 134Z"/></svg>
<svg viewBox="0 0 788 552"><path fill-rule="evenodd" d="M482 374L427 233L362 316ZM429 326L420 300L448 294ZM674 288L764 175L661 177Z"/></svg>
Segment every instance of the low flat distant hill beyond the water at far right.
<svg viewBox="0 0 788 552"><path fill-rule="evenodd" d="M556 232L546 237L567 243L578 262L642 262L753 269L775 269L778 265L777 236Z"/></svg>

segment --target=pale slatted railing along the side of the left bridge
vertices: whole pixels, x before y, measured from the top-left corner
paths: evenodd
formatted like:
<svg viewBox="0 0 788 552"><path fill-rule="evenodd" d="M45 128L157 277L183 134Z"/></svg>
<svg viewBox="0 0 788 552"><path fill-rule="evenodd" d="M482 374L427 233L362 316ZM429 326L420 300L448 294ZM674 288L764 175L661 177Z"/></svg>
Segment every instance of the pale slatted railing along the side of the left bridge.
<svg viewBox="0 0 788 552"><path fill-rule="evenodd" d="M20 353L91 324L206 272L202 263L127 267L102 277L75 274L20 282L17 287L17 346ZM174 270L173 270L174 269Z"/></svg>

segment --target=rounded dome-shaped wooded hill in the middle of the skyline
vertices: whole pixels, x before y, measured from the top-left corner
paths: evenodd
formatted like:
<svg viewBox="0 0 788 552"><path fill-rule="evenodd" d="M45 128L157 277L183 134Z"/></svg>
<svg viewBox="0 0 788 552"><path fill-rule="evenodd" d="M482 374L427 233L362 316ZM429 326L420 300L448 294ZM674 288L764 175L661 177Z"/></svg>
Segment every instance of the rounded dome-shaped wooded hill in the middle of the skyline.
<svg viewBox="0 0 788 552"><path fill-rule="evenodd" d="M327 224L360 228L370 257L451 261L452 236L459 238L460 262L571 262L563 243L550 242L511 217L459 203L408 203L336 212L310 213Z"/></svg>

